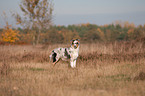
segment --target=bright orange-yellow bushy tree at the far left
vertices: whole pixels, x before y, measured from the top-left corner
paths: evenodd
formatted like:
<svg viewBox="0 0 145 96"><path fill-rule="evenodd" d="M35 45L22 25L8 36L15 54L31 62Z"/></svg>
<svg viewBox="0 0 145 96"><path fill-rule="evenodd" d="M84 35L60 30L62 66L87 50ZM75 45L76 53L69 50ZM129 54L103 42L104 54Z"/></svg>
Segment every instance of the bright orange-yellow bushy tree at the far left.
<svg viewBox="0 0 145 96"><path fill-rule="evenodd" d="M3 29L2 32L2 41L14 43L17 40L19 40L19 31L13 30L10 28L10 25L7 24L7 26Z"/></svg>

